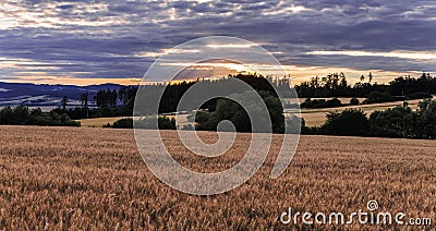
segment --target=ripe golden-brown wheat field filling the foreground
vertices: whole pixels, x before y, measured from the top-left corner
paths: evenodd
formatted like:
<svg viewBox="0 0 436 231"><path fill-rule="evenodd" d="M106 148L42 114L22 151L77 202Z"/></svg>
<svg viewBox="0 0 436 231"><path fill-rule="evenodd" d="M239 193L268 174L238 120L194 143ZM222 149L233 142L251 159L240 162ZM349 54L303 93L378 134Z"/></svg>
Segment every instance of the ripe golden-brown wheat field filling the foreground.
<svg viewBox="0 0 436 231"><path fill-rule="evenodd" d="M174 159L222 170L243 156L249 134L222 158L195 158L164 132ZM214 142L215 133L201 133ZM435 229L436 142L302 136L280 178L269 179L280 135L245 184L214 196L161 183L143 162L132 130L0 126L0 230ZM203 169L208 168L208 169ZM428 217L432 226L283 224L298 211L353 212L376 199L380 211Z"/></svg>

